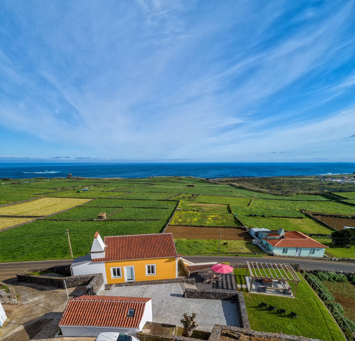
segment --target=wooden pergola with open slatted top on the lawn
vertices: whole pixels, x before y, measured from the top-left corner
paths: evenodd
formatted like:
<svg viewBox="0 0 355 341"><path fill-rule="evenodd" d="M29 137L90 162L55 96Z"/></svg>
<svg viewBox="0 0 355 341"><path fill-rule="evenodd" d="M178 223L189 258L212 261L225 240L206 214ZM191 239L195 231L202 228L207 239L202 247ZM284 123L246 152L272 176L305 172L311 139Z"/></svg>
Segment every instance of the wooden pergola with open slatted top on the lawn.
<svg viewBox="0 0 355 341"><path fill-rule="evenodd" d="M248 270L250 271L250 288L251 292L254 279L272 279L275 281L290 281L295 282L295 292L296 294L297 285L301 282L300 277L297 275L297 272L293 270L290 264L276 264L276 263L267 263L267 262L250 262L246 261L247 270L245 276L248 275Z"/></svg>

